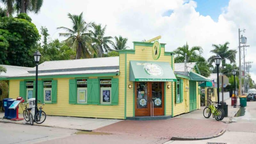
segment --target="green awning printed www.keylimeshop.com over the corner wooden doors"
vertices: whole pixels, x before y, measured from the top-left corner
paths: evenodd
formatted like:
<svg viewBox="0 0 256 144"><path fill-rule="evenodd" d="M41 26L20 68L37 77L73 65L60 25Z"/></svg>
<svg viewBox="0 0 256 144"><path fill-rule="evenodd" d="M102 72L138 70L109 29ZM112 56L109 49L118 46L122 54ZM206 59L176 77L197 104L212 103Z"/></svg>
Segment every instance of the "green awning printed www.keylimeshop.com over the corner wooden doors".
<svg viewBox="0 0 256 144"><path fill-rule="evenodd" d="M129 80L133 82L176 82L169 62L130 61Z"/></svg>

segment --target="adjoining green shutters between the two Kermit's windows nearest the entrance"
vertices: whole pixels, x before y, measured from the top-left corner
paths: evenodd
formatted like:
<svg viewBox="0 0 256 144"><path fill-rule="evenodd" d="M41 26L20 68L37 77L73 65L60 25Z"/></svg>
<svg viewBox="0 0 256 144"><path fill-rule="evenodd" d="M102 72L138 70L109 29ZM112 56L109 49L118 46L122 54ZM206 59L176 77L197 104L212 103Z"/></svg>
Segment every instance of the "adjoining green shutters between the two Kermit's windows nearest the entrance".
<svg viewBox="0 0 256 144"><path fill-rule="evenodd" d="M100 84L99 79L87 79L87 104L99 104Z"/></svg>

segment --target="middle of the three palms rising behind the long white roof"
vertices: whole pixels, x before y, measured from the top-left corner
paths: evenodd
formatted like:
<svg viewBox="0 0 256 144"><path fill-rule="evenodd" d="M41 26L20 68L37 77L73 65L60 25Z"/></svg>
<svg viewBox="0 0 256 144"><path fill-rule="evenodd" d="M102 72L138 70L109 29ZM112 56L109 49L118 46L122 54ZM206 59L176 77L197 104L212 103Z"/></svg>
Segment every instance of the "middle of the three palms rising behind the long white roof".
<svg viewBox="0 0 256 144"><path fill-rule="evenodd" d="M92 27L94 28L93 31L91 31L94 44L94 49L97 50L98 56L102 57L102 54L105 52L111 51L111 48L108 46L108 44L113 44L113 42L110 40L113 37L112 36L104 36L106 26L104 28L101 28L101 24L93 24Z"/></svg>

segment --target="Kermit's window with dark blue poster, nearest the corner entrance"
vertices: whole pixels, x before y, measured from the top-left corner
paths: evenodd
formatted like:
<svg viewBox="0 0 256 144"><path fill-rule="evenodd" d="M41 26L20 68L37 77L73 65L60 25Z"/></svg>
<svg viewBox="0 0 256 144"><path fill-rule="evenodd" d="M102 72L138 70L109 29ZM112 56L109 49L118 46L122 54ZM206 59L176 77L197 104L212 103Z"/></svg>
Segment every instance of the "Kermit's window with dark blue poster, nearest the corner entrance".
<svg viewBox="0 0 256 144"><path fill-rule="evenodd" d="M100 79L100 104L111 104L111 79Z"/></svg>

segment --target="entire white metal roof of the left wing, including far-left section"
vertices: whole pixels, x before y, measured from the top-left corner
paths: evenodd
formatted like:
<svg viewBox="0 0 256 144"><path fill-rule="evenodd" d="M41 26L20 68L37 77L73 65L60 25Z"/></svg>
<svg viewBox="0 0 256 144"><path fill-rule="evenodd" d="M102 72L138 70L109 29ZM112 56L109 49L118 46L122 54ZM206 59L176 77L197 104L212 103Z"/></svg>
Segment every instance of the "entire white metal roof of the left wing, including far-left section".
<svg viewBox="0 0 256 144"><path fill-rule="evenodd" d="M5 65L4 65L5 66ZM0 77L35 76L36 67L7 66L7 73ZM78 60L45 61L38 65L38 76L55 76L69 74L103 74L119 71L119 57L103 57ZM2 75L3 74L3 75Z"/></svg>

